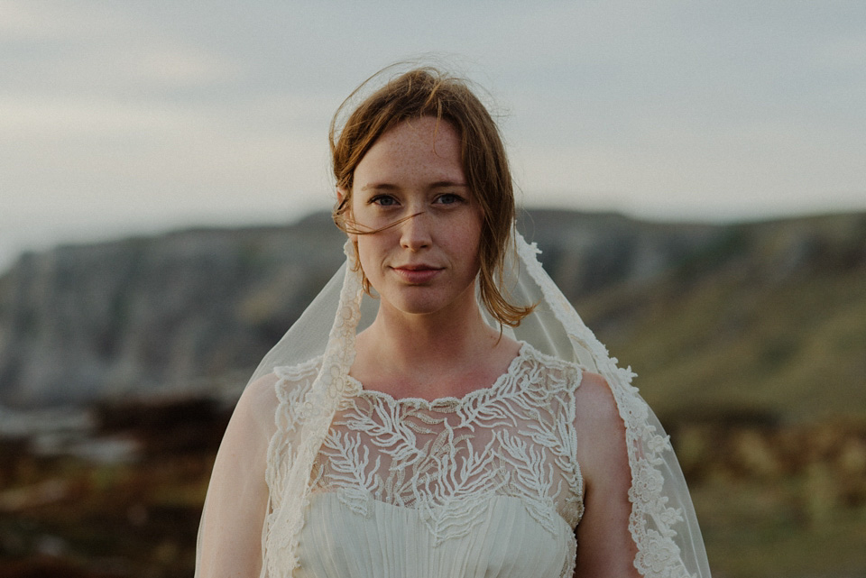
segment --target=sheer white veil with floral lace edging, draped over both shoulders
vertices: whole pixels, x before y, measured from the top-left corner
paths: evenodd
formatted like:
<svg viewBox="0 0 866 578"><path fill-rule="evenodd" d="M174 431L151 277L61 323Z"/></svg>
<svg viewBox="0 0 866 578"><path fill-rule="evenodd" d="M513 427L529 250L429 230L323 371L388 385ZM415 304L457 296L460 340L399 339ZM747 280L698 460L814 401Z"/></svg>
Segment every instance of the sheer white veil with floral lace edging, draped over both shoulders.
<svg viewBox="0 0 866 578"><path fill-rule="evenodd" d="M603 344L585 326L574 307L542 269L535 244L526 243L516 232L513 238L513 249L509 251L504 268L502 292L509 295L515 305L537 303L538 306L521 326L513 330L506 328L505 333L528 342L542 353L576 362L600 373L610 385L625 425L631 465L629 530L637 546L635 567L643 576L709 577L704 543L686 482L668 436L640 398L638 390L631 386L631 369L618 367L617 360L610 357ZM292 368L320 358L321 369L302 401L304 419L300 431L295 432L294 460L289 472L279 474L284 476L285 495L279 500L265 496L261 515L246 518L250 520L249 527L230 530L237 536L244 532L252 533L256 539L261 536L260 576L289 575L286 568L297 565L296 550L308 505L313 461L341 400L357 393L357 386L346 379L355 358L355 334L372 322L377 309L376 302L364 294L360 276L352 267L355 256L348 243L345 252L346 263L263 358L238 404L236 411L241 411L243 405L244 408L258 408L256 411L263 414L263 426L242 436L248 442L240 442L245 452L258 454L260 461L255 467L241 471L215 467L199 528L197 576L203 553L209 555L203 536L227 531L221 527L226 516L219 510L244 508L237 496L226 496L226 492L219 490L222 478L228 475L252 478L233 483L244 488L261 488L265 475L263 467L269 467L261 463L261 456L266 454L263 445L279 443L279 440L272 439L276 429L272 422L277 418L274 416L275 406L271 405L276 403L272 392L274 376L289 374ZM254 393L253 390L260 392ZM252 401L247 403L244 398ZM249 446L245 447L247 444ZM236 445L231 449L221 447L220 454L237 453ZM217 463L219 460L218 456Z"/></svg>

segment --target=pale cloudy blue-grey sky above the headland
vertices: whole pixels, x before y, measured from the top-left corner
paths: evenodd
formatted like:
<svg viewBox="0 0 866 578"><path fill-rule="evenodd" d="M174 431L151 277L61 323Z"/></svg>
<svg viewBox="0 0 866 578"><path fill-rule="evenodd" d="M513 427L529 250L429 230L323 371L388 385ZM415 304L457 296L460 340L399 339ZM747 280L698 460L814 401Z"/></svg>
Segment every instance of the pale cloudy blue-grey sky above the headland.
<svg viewBox="0 0 866 578"><path fill-rule="evenodd" d="M326 209L336 107L431 54L484 87L523 206L866 210L862 0L0 0L0 269Z"/></svg>

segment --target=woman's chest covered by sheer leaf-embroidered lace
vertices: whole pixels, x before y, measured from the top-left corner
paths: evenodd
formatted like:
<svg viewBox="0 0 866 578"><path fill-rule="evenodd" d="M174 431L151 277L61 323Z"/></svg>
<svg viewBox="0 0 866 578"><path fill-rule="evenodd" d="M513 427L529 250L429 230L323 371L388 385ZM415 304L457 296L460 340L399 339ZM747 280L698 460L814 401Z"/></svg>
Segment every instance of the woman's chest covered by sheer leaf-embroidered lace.
<svg viewBox="0 0 866 578"><path fill-rule="evenodd" d="M574 527L582 479L573 392L535 393L519 387L435 402L374 392L348 399L314 463L313 491L336 493L362 516L382 502L426 511L434 524L450 509L469 511L502 496L520 500L549 532L561 519Z"/></svg>

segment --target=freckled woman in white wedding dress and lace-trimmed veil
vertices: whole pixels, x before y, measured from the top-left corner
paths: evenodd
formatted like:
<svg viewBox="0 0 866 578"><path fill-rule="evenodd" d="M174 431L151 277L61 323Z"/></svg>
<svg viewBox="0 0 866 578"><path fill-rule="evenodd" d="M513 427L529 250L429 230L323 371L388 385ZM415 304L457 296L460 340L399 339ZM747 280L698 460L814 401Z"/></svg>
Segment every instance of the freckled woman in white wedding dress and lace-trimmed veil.
<svg viewBox="0 0 866 578"><path fill-rule="evenodd" d="M513 230L481 102L414 69L339 115L347 263L238 402L197 574L708 576L631 372Z"/></svg>

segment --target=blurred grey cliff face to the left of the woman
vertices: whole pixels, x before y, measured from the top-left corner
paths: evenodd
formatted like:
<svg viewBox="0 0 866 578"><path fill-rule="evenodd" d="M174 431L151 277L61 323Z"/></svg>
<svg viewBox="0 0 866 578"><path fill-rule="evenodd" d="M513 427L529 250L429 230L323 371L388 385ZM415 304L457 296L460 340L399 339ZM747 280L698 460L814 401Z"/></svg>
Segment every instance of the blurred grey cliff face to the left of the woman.
<svg viewBox="0 0 866 578"><path fill-rule="evenodd" d="M210 387L248 369L342 261L323 221L23 256L0 280L0 403Z"/></svg>

